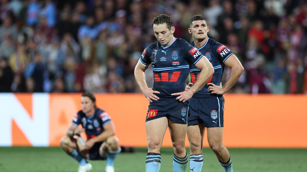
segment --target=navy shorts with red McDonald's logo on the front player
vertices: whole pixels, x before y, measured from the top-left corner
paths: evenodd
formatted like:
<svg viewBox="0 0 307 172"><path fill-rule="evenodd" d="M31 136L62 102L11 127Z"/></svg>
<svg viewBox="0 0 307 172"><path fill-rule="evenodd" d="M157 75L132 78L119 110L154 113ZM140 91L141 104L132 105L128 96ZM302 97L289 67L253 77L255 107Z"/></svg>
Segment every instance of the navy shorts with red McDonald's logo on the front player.
<svg viewBox="0 0 307 172"><path fill-rule="evenodd" d="M176 98L161 98L153 100L149 103L146 115L146 122L166 117L177 124L187 124L187 117L189 115L188 102L182 103Z"/></svg>

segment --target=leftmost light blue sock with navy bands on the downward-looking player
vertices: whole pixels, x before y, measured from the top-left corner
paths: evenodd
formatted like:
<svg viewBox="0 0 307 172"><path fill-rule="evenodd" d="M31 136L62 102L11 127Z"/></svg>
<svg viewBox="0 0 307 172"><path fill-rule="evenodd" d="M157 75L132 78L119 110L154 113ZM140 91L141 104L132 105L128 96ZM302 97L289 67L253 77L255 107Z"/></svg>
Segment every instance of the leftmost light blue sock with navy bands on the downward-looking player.
<svg viewBox="0 0 307 172"><path fill-rule="evenodd" d="M145 166L146 172L158 172L161 166L161 154L148 152Z"/></svg>

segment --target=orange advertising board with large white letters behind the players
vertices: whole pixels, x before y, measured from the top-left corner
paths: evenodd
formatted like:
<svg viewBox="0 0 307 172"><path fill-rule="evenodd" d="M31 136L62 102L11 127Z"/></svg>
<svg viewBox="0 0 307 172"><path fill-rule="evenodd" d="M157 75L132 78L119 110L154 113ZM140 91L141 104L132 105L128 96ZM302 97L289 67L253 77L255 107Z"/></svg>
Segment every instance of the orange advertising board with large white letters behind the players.
<svg viewBox="0 0 307 172"><path fill-rule="evenodd" d="M0 146L59 146L73 116L81 109L80 93L0 94L1 118L7 124ZM142 94L95 94L97 106L115 124L121 145L146 147L149 102ZM225 94L223 143L229 148L307 148L306 95ZM167 106L167 105L165 105ZM171 147L169 131L162 146ZM188 139L186 139L188 147ZM204 139L204 147L208 147Z"/></svg>

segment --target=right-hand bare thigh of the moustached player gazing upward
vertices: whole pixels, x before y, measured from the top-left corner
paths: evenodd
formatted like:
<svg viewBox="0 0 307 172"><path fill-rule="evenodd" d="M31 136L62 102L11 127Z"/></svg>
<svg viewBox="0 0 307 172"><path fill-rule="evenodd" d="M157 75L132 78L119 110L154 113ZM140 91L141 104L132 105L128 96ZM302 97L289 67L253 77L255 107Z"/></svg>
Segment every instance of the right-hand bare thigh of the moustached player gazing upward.
<svg viewBox="0 0 307 172"><path fill-rule="evenodd" d="M210 147L223 145L223 127L207 128L207 139Z"/></svg>

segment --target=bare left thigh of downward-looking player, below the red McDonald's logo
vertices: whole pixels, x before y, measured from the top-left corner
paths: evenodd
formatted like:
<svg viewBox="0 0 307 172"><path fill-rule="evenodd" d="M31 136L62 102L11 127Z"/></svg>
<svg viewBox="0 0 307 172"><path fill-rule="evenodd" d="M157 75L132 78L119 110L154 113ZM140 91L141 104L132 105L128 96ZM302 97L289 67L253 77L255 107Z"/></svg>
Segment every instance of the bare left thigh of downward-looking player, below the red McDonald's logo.
<svg viewBox="0 0 307 172"><path fill-rule="evenodd" d="M166 117L161 117L146 122L146 134L149 146L161 146L167 126L168 119Z"/></svg>

